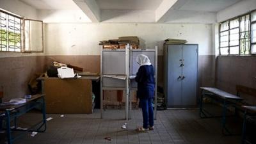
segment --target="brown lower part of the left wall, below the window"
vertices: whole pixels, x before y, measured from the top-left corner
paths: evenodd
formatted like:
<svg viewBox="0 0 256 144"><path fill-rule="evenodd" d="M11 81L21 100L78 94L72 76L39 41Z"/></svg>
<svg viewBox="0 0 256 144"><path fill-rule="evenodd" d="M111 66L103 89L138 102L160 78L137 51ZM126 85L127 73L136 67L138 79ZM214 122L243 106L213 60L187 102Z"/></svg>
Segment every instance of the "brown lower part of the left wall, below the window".
<svg viewBox="0 0 256 144"><path fill-rule="evenodd" d="M29 94L28 82L36 72L44 72L45 56L20 56L0 58L0 86L4 99L24 97Z"/></svg>

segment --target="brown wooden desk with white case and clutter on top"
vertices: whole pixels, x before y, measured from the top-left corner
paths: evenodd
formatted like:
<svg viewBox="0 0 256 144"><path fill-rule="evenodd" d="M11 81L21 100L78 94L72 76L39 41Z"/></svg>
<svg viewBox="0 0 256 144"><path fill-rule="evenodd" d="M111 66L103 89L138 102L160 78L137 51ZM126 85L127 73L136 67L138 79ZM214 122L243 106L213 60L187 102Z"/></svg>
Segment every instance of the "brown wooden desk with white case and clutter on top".
<svg viewBox="0 0 256 144"><path fill-rule="evenodd" d="M92 113L92 83L99 79L99 76L83 76L78 79L38 78L42 82L42 93L45 93L46 113Z"/></svg>

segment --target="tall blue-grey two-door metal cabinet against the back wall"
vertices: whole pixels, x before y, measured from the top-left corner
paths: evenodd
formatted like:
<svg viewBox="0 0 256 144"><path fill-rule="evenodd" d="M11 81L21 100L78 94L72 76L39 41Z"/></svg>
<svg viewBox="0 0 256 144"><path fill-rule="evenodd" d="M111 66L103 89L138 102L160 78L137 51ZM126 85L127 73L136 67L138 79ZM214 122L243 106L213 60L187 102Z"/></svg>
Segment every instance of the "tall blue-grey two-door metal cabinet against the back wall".
<svg viewBox="0 0 256 144"><path fill-rule="evenodd" d="M198 45L164 45L164 95L168 108L196 106Z"/></svg>

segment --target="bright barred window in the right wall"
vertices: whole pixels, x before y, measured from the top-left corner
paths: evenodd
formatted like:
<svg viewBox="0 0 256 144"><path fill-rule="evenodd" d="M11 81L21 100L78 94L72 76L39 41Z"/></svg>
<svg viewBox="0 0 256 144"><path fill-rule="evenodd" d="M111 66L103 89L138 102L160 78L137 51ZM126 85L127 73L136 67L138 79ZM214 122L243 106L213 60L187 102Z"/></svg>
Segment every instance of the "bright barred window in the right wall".
<svg viewBox="0 0 256 144"><path fill-rule="evenodd" d="M219 31L220 55L256 54L256 11L221 22Z"/></svg>

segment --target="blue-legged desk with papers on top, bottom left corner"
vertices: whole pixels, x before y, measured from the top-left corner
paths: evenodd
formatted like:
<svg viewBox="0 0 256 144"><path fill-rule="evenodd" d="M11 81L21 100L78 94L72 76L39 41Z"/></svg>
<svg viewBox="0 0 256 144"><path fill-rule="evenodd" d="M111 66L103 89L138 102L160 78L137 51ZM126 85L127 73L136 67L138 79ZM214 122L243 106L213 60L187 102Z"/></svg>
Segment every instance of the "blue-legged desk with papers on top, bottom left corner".
<svg viewBox="0 0 256 144"><path fill-rule="evenodd" d="M33 95L31 99L27 99L26 103L10 105L10 106L0 106L0 119L6 121L6 136L8 144L12 144L13 141L17 140L20 136L12 138L12 131L21 131L17 129L17 117L24 115L31 109L40 108L42 111L42 121L33 125L31 128L23 131L36 131L44 132L46 130L46 116L45 116L45 101L44 94ZM11 128L11 122L14 120L14 128ZM37 127L35 129L35 127ZM34 129L33 129L34 128Z"/></svg>

